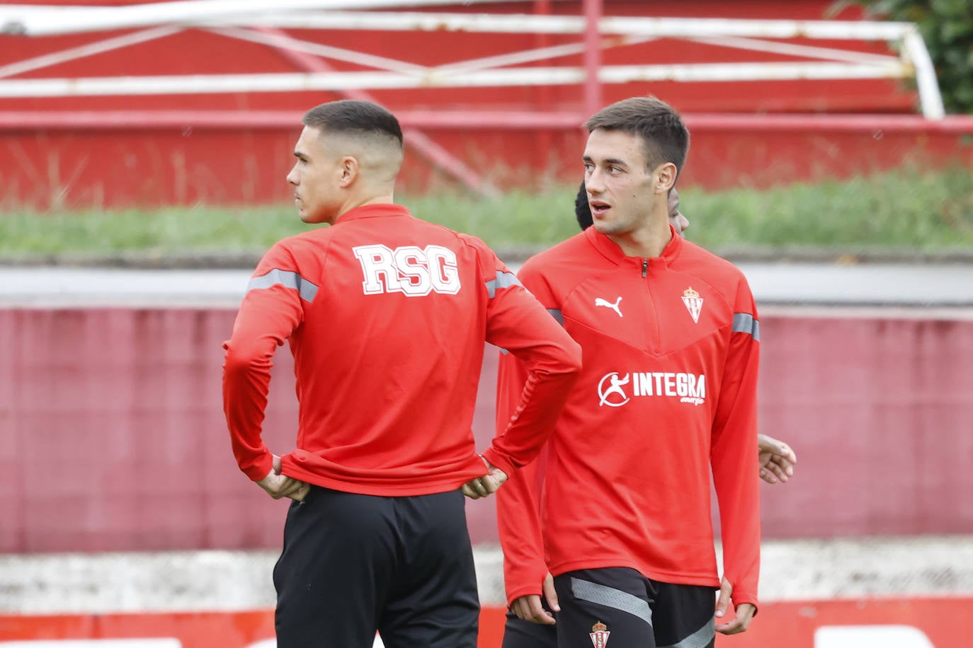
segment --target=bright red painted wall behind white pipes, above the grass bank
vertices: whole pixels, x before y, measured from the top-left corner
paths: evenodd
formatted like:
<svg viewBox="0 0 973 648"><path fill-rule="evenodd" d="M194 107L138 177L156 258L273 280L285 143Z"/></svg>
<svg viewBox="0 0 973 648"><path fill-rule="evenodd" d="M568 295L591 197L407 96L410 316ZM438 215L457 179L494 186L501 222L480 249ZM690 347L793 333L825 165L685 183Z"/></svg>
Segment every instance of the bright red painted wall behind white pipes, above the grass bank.
<svg viewBox="0 0 973 648"><path fill-rule="evenodd" d="M43 3L34 0L28 4ZM831 5L831 0L606 0L605 14L820 19ZM443 11L529 13L533 9L534 3L514 3L457 6ZM576 15L581 6L579 2L555 2L551 11ZM860 10L851 8L837 17L860 16ZM0 66L112 35L0 36ZM295 35L423 64L578 40L446 32L295 31ZM855 47L850 42L811 44ZM859 44L857 49L889 53L883 43ZM660 39L606 51L604 62L768 58L762 52ZM555 62L580 64L581 57L568 56ZM355 69L341 61L333 63L336 69ZM190 30L15 78L294 71L298 71L294 63L278 51ZM694 143L685 184L767 187L795 180L843 178L909 162L973 164L973 147L969 145L973 118L954 122L948 129L924 124L918 118L882 126L875 115L854 121L850 128L812 119L767 128L774 123L765 117L768 113L915 113L915 92L895 81L607 85L603 101L645 93L665 98L687 115ZM538 187L552 177L574 182L581 176L580 124L588 117L581 86L422 88L376 91L374 95L400 115L405 125L423 129L434 142L500 188ZM56 210L284 202L291 195L284 176L300 130L300 116L308 107L336 98L339 95L327 92L287 92L0 99L0 207L26 205ZM170 113L163 117L159 111ZM435 111L451 111L459 119L474 111L493 111L500 117L486 123L471 116L465 127L457 127L444 125ZM549 125L513 125L520 116L543 111L558 111L561 118L557 123L552 119ZM705 117L714 113L753 118L734 122ZM137 123L126 124L128 119ZM240 123L240 119L248 122ZM229 121L233 125L219 125ZM471 127L470 121L476 126ZM404 188L421 191L452 182L415 153L411 150L407 159Z"/></svg>

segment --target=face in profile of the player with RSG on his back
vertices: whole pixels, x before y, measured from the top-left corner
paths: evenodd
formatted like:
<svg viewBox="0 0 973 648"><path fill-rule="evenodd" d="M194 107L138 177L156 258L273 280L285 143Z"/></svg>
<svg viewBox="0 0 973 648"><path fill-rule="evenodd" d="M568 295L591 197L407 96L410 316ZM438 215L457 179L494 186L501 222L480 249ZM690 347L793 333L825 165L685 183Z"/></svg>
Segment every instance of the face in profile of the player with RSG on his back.
<svg viewBox="0 0 973 648"><path fill-rule="evenodd" d="M326 139L319 129L305 126L294 147L298 160L287 174L287 182L294 187L294 203L304 222L334 223L341 206L342 169L334 155L327 153Z"/></svg>

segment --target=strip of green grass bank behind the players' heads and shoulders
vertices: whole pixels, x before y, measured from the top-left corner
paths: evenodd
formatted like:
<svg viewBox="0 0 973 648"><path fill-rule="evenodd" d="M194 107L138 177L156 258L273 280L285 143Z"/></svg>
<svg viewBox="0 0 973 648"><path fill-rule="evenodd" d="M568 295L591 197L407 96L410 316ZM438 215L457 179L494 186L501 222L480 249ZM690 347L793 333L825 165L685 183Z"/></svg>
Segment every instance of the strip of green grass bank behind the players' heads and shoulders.
<svg viewBox="0 0 973 648"><path fill-rule="evenodd" d="M545 247L577 231L576 186L495 199L462 193L399 196L416 216L483 238L494 248ZM681 191L689 238L704 247L848 247L973 250L973 173L896 171L765 191ZM308 228L291 205L135 211L0 213L0 257L259 254Z"/></svg>

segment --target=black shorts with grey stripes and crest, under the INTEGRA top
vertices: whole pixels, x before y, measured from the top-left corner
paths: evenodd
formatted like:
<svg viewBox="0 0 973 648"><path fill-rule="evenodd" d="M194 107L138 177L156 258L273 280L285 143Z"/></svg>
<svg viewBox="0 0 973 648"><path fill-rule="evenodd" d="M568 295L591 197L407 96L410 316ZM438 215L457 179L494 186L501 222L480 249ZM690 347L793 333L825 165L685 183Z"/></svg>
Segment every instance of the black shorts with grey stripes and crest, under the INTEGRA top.
<svg viewBox="0 0 973 648"><path fill-rule="evenodd" d="M503 648L713 648L716 589L674 585L609 567L554 579L555 626L507 615Z"/></svg>

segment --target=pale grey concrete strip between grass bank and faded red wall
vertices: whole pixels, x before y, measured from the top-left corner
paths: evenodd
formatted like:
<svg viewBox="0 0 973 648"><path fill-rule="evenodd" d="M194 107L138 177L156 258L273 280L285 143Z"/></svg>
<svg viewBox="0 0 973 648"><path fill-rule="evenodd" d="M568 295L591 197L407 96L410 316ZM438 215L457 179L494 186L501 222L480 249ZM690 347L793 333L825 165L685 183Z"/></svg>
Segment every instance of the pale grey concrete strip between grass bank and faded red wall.
<svg viewBox="0 0 973 648"><path fill-rule="evenodd" d="M759 305L973 306L973 265L740 264ZM0 267L0 306L226 306L246 270Z"/></svg>

